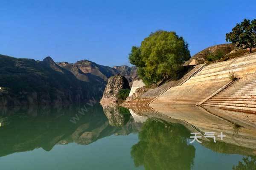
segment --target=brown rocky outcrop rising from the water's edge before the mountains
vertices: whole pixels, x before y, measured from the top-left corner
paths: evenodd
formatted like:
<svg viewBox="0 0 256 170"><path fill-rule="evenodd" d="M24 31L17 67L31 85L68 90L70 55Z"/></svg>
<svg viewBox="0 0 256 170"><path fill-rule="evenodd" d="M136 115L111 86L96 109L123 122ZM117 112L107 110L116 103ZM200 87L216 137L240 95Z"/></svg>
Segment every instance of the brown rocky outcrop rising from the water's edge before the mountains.
<svg viewBox="0 0 256 170"><path fill-rule="evenodd" d="M118 93L121 89L130 89L129 82L124 76L116 75L108 79L101 103L118 102Z"/></svg>

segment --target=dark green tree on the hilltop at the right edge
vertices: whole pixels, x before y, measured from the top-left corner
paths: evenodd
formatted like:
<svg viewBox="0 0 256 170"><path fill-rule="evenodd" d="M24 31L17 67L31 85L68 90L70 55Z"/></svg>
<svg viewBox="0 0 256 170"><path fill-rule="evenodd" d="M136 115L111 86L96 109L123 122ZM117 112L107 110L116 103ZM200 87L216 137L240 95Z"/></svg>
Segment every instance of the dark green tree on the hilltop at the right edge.
<svg viewBox="0 0 256 170"><path fill-rule="evenodd" d="M237 23L232 32L226 34L226 41L232 42L239 48L256 48L256 19L244 19L240 24Z"/></svg>

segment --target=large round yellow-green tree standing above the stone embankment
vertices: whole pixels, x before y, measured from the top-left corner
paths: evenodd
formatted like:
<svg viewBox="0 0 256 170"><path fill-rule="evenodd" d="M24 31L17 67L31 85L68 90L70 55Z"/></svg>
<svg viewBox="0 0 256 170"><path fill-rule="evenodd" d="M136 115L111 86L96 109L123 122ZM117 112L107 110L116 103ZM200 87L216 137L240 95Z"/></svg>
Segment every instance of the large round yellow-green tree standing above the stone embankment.
<svg viewBox="0 0 256 170"><path fill-rule="evenodd" d="M147 85L161 79L176 78L184 61L189 60L188 44L175 32L156 31L133 46L129 54L131 64L136 65L139 76Z"/></svg>

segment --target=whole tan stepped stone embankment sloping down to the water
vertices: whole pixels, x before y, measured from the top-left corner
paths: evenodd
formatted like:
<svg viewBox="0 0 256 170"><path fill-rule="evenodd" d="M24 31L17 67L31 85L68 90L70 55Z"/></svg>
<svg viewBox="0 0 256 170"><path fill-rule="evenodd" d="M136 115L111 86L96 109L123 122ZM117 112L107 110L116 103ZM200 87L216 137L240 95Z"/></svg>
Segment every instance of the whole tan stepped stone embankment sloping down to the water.
<svg viewBox="0 0 256 170"><path fill-rule="evenodd" d="M182 85L167 89L149 105L200 105L214 95L202 105L251 111L256 109L255 65L256 54L207 65ZM231 85L230 71L240 78Z"/></svg>

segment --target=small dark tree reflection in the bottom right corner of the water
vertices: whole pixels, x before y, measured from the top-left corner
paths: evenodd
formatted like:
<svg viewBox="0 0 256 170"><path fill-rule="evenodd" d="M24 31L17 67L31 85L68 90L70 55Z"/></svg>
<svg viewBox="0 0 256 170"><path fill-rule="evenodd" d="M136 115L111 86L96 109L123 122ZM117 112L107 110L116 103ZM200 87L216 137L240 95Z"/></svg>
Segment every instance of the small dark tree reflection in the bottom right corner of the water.
<svg viewBox="0 0 256 170"><path fill-rule="evenodd" d="M256 156L246 156L243 158L243 162L239 161L233 170L256 170Z"/></svg>

